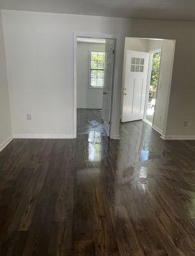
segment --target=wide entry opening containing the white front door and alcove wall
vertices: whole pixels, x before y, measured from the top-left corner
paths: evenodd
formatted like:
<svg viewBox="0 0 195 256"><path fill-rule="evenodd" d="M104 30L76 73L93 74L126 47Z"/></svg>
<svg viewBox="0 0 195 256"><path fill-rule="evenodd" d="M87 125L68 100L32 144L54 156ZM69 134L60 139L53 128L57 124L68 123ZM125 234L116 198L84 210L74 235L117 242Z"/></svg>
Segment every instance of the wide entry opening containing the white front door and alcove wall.
<svg viewBox="0 0 195 256"><path fill-rule="evenodd" d="M175 40L125 38L121 123L166 129Z"/></svg>

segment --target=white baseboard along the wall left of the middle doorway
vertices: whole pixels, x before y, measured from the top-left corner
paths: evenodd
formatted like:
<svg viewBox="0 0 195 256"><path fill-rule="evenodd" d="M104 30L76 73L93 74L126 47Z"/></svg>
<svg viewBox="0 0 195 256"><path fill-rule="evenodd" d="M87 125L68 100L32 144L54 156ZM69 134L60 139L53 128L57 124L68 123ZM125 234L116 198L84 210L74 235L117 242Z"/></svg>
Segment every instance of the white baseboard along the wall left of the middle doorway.
<svg viewBox="0 0 195 256"><path fill-rule="evenodd" d="M73 139L73 134L13 134L15 139Z"/></svg>

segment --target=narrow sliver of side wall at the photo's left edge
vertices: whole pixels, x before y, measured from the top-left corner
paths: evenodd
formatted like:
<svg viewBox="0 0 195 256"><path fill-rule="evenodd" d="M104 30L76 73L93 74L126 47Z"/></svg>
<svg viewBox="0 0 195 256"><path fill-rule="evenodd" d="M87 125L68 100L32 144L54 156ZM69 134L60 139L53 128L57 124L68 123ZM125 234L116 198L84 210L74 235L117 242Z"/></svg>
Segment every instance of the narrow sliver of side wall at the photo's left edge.
<svg viewBox="0 0 195 256"><path fill-rule="evenodd" d="M12 124L4 54L3 23L0 12L0 151L11 140Z"/></svg>

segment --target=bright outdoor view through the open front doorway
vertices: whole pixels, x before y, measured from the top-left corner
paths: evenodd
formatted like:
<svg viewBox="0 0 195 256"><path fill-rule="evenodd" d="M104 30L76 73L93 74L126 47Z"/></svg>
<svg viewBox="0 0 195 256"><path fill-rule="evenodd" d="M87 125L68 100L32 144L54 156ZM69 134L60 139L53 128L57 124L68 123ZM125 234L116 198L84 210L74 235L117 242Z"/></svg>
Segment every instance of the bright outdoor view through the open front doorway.
<svg viewBox="0 0 195 256"><path fill-rule="evenodd" d="M159 82L161 50L151 52L148 67L148 105L146 109L146 120L153 124L153 115L155 112L155 102L157 97L157 87Z"/></svg>

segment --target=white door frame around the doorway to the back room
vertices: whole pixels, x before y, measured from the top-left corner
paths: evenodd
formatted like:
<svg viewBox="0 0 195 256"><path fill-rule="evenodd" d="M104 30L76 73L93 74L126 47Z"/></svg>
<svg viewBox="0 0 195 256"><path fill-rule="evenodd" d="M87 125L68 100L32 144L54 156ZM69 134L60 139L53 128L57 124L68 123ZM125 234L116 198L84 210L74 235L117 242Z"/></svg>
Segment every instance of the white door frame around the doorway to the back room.
<svg viewBox="0 0 195 256"><path fill-rule="evenodd" d="M115 49L114 49L114 72L113 72L113 88L112 88L112 97L111 97L111 127L110 127L110 138L114 138L112 135L113 127L113 106L116 104L116 41L117 36L114 35L104 35L96 33L86 33L86 32L74 32L73 35L73 134L74 138L77 138L77 37L83 38L101 38L101 39L113 39L115 40ZM120 122L120 121L119 121Z"/></svg>

